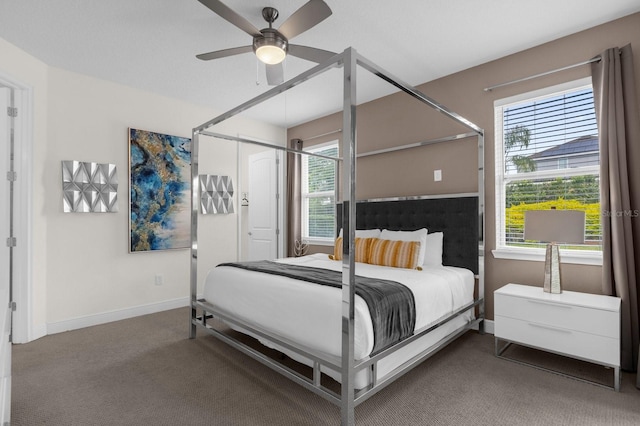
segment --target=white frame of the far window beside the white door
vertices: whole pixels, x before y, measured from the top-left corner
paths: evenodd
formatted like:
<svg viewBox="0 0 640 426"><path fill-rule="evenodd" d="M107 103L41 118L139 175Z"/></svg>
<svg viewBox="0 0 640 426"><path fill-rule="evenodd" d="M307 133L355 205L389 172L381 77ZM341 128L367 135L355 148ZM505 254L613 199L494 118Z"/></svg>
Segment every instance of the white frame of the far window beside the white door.
<svg viewBox="0 0 640 426"><path fill-rule="evenodd" d="M313 145L310 146L309 148L305 148L303 149L305 152L310 152L310 153L314 153L317 154L318 151L322 151L325 150L327 148L332 148L335 147L338 150L340 150L340 146L339 146L339 141L338 140L332 140L329 142L325 142L325 143L321 143L318 145ZM307 244L311 244L311 245L322 245L322 246L332 246L335 243L335 236L334 237L310 237L309 236L309 204L308 204L308 200L311 198L322 198L322 197L331 197L333 198L333 205L334 205L334 226L333 228L335 229L335 202L336 202L336 190L337 190L337 183L338 183L338 170L336 168L335 170L335 176L334 176L334 188L331 191L319 191L319 192L314 192L314 193L309 193L308 192L308 186L309 186L309 181L308 181L308 171L307 171L307 164L308 164L308 160L309 160L308 155L304 155L302 158L302 165L301 165L301 206L300 206L300 215L301 215L301 225L302 225L302 229L301 229L301 235L302 235L302 239L303 241L305 241Z"/></svg>

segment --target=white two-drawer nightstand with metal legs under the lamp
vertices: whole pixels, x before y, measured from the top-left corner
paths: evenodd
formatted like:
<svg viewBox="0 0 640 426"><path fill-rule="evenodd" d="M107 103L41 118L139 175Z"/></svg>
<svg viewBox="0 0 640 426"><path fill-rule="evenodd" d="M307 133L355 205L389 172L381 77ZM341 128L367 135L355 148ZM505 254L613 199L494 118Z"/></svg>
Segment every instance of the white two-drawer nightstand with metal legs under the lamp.
<svg viewBox="0 0 640 426"><path fill-rule="evenodd" d="M504 350L517 343L612 367L614 389L620 390L619 298L573 291L551 294L519 284L507 284L493 294L496 356L504 358ZM500 340L507 342L503 348Z"/></svg>

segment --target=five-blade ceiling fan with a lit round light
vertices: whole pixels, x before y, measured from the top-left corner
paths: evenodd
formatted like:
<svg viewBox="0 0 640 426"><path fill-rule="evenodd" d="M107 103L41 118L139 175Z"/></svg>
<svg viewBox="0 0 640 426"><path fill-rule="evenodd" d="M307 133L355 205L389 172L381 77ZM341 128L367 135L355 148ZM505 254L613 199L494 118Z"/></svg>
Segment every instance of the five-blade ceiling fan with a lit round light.
<svg viewBox="0 0 640 426"><path fill-rule="evenodd" d="M234 47L196 55L196 58L203 61L253 51L258 59L266 64L267 83L276 85L284 81L282 61L287 54L318 63L335 55L327 50L289 43L290 39L316 26L331 15L331 9L323 0L310 0L296 10L278 29L272 27L273 22L278 18L278 10L273 7L265 7L262 9L262 17L269 23L269 27L262 30L257 29L251 22L219 0L198 1L253 37L251 46Z"/></svg>

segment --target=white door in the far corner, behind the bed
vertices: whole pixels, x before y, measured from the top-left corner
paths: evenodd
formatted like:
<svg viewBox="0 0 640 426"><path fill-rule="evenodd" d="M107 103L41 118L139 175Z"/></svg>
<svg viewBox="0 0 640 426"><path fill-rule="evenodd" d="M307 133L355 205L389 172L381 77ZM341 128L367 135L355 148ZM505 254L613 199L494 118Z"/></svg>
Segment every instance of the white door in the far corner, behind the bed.
<svg viewBox="0 0 640 426"><path fill-rule="evenodd" d="M282 252L280 152L249 156L248 260L273 260Z"/></svg>

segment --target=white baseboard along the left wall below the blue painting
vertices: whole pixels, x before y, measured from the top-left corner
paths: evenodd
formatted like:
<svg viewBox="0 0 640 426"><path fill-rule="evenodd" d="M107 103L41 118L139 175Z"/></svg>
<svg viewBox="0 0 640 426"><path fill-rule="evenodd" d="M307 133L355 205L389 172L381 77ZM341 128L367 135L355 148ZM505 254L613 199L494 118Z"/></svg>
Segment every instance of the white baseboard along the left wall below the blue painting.
<svg viewBox="0 0 640 426"><path fill-rule="evenodd" d="M169 309L182 308L189 306L189 300L189 297L182 297L180 299L166 300L164 302L151 303L149 305L134 306L132 308L120 309L117 311L103 312L100 314L48 323L47 334L62 333L65 331L77 330L79 328L120 321L140 315L148 315L156 312L168 311Z"/></svg>

